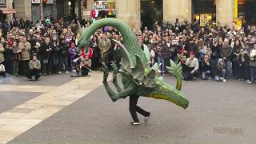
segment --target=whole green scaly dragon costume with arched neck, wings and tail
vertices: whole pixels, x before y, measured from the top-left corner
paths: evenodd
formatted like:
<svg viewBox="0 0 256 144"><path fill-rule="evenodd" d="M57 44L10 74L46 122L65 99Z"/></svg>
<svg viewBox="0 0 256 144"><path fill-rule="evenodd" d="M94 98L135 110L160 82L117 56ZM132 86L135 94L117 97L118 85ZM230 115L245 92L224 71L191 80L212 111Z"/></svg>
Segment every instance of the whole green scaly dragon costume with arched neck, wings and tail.
<svg viewBox="0 0 256 144"><path fill-rule="evenodd" d="M113 84L117 90L117 93L110 88L107 82L109 75L108 67L102 63L104 71L103 84L106 88L107 94L113 102L120 98L126 98L127 96L144 96L157 99L165 99L173 102L174 104L186 109L189 105L188 100L180 91L182 88L182 66L181 64L175 64L170 60L171 66L166 67L177 78L176 88L170 86L163 81L162 77L158 77L158 63L150 67L148 59L150 52L144 45L144 51L138 44L138 38L134 32L130 29L125 22L122 22L116 18L103 18L90 25L86 31L83 32L82 38L79 40L78 50L80 51L82 46L86 47L88 51L88 44L90 36L94 32L103 26L114 26L117 28L124 39L123 46L120 42L116 42L121 47L122 61L121 69L118 70L117 66L112 62L111 66L113 72ZM122 75L122 86L119 86L117 81L118 74Z"/></svg>

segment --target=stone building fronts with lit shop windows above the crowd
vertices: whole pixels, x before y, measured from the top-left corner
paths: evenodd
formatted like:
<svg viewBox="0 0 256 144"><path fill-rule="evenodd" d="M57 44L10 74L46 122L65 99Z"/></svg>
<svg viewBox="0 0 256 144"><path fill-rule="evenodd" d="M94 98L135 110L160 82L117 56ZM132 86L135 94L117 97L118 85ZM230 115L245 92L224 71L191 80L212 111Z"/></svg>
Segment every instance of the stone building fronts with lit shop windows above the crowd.
<svg viewBox="0 0 256 144"><path fill-rule="evenodd" d="M89 19L96 2L114 2L115 17L135 29L140 29L142 23L152 24L162 20L174 22L176 18L191 22L202 17L231 26L234 18L241 16L244 22L256 25L255 0L0 0L1 2L6 2L5 6L17 10L15 17L27 18L33 22L49 15L54 19L70 14ZM102 10L98 12L102 13ZM7 14L6 17L10 19L12 14Z"/></svg>

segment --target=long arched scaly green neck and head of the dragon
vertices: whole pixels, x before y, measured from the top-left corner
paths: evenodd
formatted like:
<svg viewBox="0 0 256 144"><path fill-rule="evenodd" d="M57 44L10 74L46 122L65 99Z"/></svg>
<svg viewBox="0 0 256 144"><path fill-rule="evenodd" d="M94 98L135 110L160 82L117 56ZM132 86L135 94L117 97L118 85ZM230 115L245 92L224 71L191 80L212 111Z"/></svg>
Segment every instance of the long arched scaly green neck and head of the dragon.
<svg viewBox="0 0 256 144"><path fill-rule="evenodd" d="M93 24L91 24L85 32L82 34L82 39L79 41L80 45L78 47L78 51L81 50L82 46L86 47L86 51L88 51L88 42L90 40L90 36L94 34L94 32L98 29L101 29L104 26L113 26L122 34L124 45L126 46L126 50L130 54L130 57L135 62L135 54L142 58L142 62L146 64L146 56L139 46L138 38L134 34L134 32L130 29L125 22L118 20L117 18L102 18Z"/></svg>

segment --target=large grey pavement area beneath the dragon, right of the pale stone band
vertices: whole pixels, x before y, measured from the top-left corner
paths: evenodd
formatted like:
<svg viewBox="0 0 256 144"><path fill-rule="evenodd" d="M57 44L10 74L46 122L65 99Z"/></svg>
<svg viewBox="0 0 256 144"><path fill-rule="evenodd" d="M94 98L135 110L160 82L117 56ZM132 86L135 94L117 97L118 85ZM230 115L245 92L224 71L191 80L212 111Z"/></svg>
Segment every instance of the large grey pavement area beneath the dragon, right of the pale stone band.
<svg viewBox="0 0 256 144"><path fill-rule="evenodd" d="M175 86L175 79L165 81ZM246 82L183 82L186 110L171 102L140 98L151 117L131 126L129 98L111 102L103 86L46 118L10 144L255 144L255 86Z"/></svg>

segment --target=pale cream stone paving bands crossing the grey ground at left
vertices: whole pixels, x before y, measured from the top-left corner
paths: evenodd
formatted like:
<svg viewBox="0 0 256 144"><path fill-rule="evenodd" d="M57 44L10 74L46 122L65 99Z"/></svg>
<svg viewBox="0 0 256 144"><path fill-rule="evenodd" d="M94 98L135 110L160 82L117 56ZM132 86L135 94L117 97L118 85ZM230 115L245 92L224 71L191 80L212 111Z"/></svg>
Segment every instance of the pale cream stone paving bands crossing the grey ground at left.
<svg viewBox="0 0 256 144"><path fill-rule="evenodd" d="M0 114L0 143L10 142L100 85L100 72L91 73L90 77L75 78L62 86L0 85L0 93L42 93Z"/></svg>

